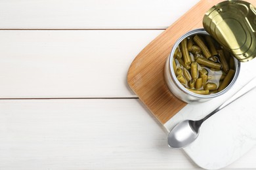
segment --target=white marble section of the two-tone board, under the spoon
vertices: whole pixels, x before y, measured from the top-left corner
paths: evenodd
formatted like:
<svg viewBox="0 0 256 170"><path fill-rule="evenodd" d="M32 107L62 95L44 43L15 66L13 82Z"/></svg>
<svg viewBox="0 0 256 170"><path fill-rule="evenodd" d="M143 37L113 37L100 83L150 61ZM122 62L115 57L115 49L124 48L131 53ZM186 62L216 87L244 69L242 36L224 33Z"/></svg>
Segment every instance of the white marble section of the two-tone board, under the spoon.
<svg viewBox="0 0 256 170"><path fill-rule="evenodd" d="M199 120L234 95L256 76L256 59L241 63L240 75L230 91L196 105L186 105L164 124L169 131L182 120ZM255 82L256 85L256 82ZM204 169L221 169L238 160L256 144L256 90L228 105L202 124L198 139L184 151Z"/></svg>

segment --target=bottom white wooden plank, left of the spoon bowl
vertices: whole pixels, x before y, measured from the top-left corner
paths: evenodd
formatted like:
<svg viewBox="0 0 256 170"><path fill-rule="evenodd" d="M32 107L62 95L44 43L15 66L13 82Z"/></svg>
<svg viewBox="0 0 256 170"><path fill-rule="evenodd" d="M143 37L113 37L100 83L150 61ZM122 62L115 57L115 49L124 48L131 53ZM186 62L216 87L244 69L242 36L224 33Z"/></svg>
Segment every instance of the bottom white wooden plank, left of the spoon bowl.
<svg viewBox="0 0 256 170"><path fill-rule="evenodd" d="M194 168L139 99L0 100L0 169Z"/></svg>

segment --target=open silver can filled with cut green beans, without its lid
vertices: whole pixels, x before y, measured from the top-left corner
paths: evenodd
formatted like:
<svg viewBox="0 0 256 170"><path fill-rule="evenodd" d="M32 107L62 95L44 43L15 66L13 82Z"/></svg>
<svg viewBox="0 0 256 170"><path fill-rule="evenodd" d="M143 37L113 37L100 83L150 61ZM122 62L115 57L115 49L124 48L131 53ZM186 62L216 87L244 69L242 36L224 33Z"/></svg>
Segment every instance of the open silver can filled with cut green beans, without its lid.
<svg viewBox="0 0 256 170"><path fill-rule="evenodd" d="M179 99L197 103L225 93L239 71L237 59L204 29L195 29L175 42L165 65L165 82Z"/></svg>

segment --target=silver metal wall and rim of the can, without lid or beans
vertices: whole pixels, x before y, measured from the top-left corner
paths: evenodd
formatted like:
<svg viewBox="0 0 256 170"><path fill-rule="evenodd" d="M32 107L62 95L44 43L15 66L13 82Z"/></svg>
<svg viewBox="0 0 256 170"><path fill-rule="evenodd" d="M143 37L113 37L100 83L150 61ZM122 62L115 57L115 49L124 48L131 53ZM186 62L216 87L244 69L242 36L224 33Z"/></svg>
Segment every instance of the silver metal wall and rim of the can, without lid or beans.
<svg viewBox="0 0 256 170"><path fill-rule="evenodd" d="M218 93L213 93L209 95L200 95L196 94L193 92L190 92L184 88L184 86L181 85L181 83L177 80L175 76L175 72L173 70L173 54L175 52L175 49L179 45L179 43L186 37L189 37L191 35L196 35L196 34L204 34L204 35L209 35L204 29L194 29L192 31L189 31L188 33L182 35L177 42L173 45L173 48L171 50L171 54L169 55L169 58L167 59L165 63L165 69L164 69L164 77L165 77L165 83L167 84L167 87L179 99L186 103L199 103L199 102L205 102L208 101L209 99L212 99L213 97L217 97L219 95L222 95L226 93L236 82L236 79L238 78L239 72L240 72L240 62L237 59L234 59L235 61L235 75L230 84L221 92Z"/></svg>

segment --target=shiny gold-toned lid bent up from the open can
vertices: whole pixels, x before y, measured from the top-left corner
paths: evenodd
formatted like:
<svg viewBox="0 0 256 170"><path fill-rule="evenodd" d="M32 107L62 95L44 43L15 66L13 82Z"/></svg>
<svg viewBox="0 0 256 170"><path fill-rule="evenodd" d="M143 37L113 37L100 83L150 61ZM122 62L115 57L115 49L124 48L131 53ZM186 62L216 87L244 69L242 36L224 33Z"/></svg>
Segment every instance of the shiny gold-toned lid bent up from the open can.
<svg viewBox="0 0 256 170"><path fill-rule="evenodd" d="M223 1L208 10L203 27L239 61L256 57L256 9L245 1Z"/></svg>

